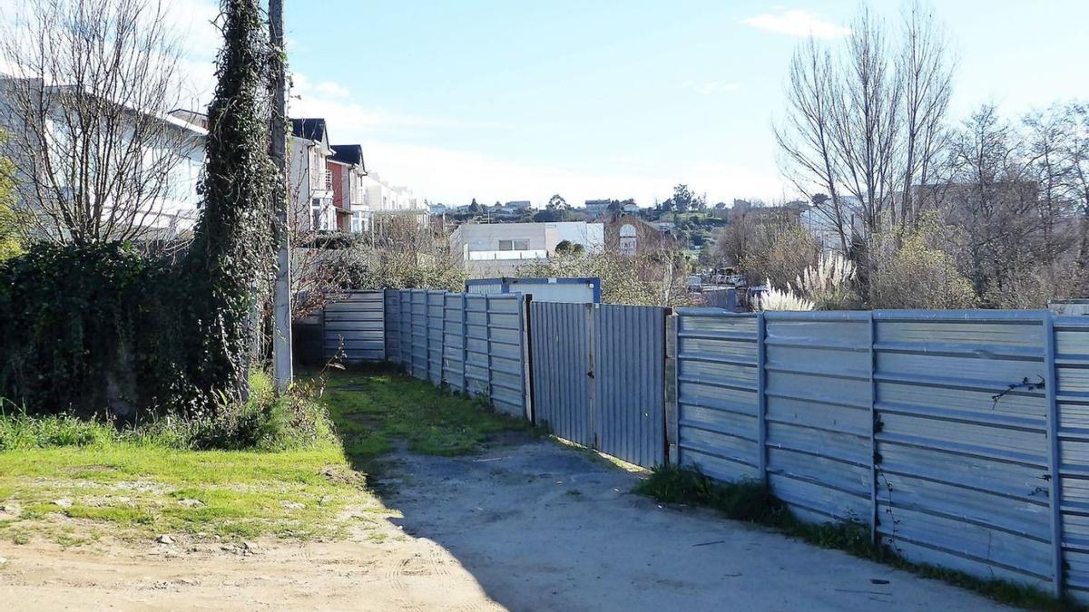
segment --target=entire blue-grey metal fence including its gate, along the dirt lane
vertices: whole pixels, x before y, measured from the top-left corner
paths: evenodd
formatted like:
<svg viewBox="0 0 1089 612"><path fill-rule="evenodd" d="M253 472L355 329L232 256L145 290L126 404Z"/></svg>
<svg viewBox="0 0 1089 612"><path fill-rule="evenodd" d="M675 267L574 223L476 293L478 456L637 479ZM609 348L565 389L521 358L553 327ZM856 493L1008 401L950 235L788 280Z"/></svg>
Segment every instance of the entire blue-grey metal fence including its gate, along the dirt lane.
<svg viewBox="0 0 1089 612"><path fill-rule="evenodd" d="M661 308L377 303L387 358L561 438L645 466L669 438L678 464L764 481L802 518L1089 600L1089 317L683 308L666 339Z"/></svg>

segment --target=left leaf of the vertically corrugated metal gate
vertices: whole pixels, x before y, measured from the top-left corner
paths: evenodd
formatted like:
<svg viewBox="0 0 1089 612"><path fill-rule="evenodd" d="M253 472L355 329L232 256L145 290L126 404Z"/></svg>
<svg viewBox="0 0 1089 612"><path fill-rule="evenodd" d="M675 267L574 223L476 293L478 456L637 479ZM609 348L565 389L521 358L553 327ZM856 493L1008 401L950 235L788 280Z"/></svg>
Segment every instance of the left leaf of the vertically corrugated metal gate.
<svg viewBox="0 0 1089 612"><path fill-rule="evenodd" d="M534 413L552 432L594 444L590 423L590 304L530 302Z"/></svg>

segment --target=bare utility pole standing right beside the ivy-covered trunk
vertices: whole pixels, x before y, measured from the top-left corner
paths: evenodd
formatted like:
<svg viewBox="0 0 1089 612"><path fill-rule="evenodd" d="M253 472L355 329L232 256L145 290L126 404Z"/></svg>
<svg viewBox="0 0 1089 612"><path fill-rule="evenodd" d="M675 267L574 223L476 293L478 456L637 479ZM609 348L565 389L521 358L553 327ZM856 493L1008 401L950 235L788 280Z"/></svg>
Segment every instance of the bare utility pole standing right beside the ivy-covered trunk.
<svg viewBox="0 0 1089 612"><path fill-rule="evenodd" d="M280 392L287 390L292 380L291 366L291 254L287 231L287 179L284 146L287 139L284 123L286 105L284 89L283 0L269 0L269 39L272 44L272 143L269 155L277 168L276 198L277 254L276 286L272 290L272 375Z"/></svg>

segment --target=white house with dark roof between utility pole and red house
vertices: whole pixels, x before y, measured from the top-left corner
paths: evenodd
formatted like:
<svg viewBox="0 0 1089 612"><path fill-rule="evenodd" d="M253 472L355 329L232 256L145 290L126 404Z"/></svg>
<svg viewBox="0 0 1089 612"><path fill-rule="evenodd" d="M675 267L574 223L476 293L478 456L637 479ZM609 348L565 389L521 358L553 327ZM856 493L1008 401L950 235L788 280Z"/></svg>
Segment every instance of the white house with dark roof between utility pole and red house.
<svg viewBox="0 0 1089 612"><path fill-rule="evenodd" d="M328 162L333 155L325 119L291 120L287 176L292 193L289 201L292 203L292 224L297 230L338 229L333 179Z"/></svg>

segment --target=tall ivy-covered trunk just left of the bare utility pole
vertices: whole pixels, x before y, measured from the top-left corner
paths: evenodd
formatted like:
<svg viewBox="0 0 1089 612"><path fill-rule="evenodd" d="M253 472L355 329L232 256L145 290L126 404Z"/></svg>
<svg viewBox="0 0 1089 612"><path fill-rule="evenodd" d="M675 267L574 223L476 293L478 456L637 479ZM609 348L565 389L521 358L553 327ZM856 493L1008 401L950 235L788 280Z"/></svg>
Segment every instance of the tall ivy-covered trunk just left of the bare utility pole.
<svg viewBox="0 0 1089 612"><path fill-rule="evenodd" d="M204 211L186 258L191 412L246 400L253 313L272 272L268 39L258 0L222 0L223 48L208 107Z"/></svg>

